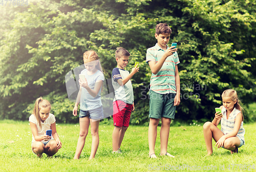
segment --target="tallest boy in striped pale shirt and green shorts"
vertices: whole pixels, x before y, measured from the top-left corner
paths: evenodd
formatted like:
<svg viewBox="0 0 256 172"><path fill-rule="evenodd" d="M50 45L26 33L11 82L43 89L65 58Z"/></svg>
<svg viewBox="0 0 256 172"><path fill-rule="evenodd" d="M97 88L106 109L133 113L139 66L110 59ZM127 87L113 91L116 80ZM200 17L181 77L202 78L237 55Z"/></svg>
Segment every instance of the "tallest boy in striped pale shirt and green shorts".
<svg viewBox="0 0 256 172"><path fill-rule="evenodd" d="M180 77L178 65L180 63L175 46L169 47L167 43L172 30L166 23L156 26L155 46L148 48L146 63L150 65L152 77L150 80L150 125L148 126L148 144L150 158L155 155L157 126L161 118L160 131L161 151L160 156L174 157L167 152L170 121L174 119L176 106L180 104Z"/></svg>

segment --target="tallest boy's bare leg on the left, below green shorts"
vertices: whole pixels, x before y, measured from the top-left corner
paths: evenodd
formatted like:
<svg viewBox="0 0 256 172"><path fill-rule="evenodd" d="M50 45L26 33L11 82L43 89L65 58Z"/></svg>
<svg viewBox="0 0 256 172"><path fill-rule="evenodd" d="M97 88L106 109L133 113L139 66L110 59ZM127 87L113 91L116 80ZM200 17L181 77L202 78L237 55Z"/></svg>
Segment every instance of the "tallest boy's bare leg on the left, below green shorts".
<svg viewBox="0 0 256 172"><path fill-rule="evenodd" d="M148 146L150 147L150 152L148 155L155 154L155 144L157 139L157 126L160 119L150 118L150 125L148 126Z"/></svg>

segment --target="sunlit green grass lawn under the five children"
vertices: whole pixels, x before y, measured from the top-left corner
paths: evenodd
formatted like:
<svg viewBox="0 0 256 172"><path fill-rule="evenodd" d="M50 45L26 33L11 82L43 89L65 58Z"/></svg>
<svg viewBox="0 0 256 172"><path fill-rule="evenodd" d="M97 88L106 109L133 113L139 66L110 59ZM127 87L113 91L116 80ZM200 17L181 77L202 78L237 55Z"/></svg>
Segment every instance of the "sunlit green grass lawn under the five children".
<svg viewBox="0 0 256 172"><path fill-rule="evenodd" d="M112 125L101 122L100 144L95 159L88 160L91 153L91 135L88 134L80 160L73 160L79 126L58 124L57 133L62 148L53 158L47 158L44 154L40 159L31 151L32 135L29 122L2 120L0 171L170 171L175 170L175 167L176 171L205 171L207 168L212 169L210 171L240 171L239 168L243 169L241 171L256 171L251 168L253 165L256 168L255 124L244 124L245 145L239 149L238 154L231 155L230 151L214 148L214 155L210 157L204 157L207 153L202 125L171 127L168 152L176 158L158 156L157 159L148 158L148 127L143 126L130 126L121 145L123 153L112 154L113 128ZM156 154L160 152L159 132L160 127ZM213 144L215 145L215 142Z"/></svg>

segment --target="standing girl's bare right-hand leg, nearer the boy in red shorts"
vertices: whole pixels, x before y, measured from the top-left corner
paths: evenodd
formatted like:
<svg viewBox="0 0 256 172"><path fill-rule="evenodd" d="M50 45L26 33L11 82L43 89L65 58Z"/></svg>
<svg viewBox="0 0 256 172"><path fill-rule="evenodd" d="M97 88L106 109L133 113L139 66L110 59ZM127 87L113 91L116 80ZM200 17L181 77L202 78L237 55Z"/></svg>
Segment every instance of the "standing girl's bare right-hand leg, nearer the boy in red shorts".
<svg viewBox="0 0 256 172"><path fill-rule="evenodd" d="M92 150L89 159L93 159L99 146L99 121L90 119L91 134L92 134Z"/></svg>

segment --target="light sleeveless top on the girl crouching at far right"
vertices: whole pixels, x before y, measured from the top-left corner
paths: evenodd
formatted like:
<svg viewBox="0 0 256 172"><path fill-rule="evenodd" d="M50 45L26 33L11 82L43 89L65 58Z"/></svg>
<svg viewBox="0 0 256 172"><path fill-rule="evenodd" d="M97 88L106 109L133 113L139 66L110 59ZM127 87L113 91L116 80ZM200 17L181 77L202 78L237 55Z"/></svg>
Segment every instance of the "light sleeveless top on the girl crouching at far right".
<svg viewBox="0 0 256 172"><path fill-rule="evenodd" d="M234 108L232 112L230 113L228 119L227 119L227 113L226 113L226 108L223 107L221 110L223 117L221 118L221 131L223 132L224 135L230 133L234 129L234 122L236 122L234 119L236 119L237 115L241 112L240 110ZM244 134L245 134L245 129L243 128L244 122L241 122L240 129L238 131L237 137L240 140L244 141Z"/></svg>

